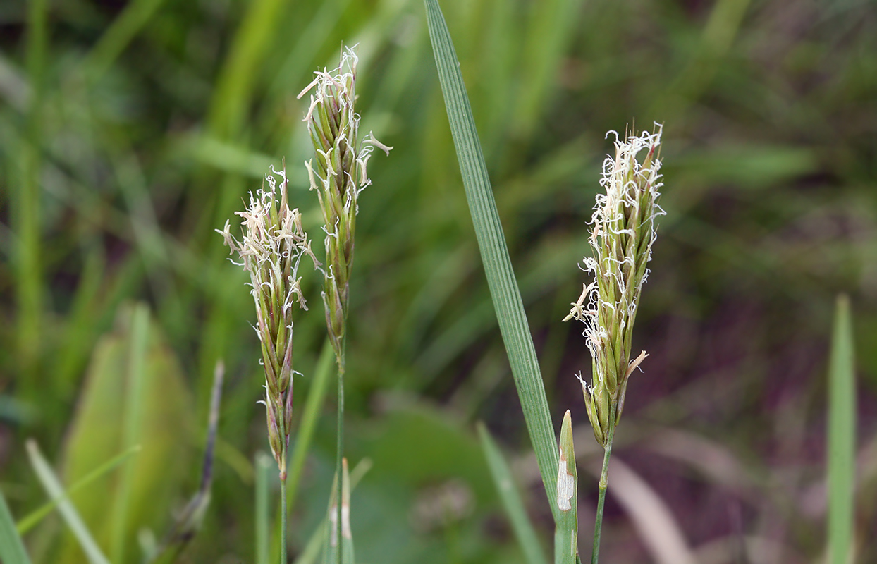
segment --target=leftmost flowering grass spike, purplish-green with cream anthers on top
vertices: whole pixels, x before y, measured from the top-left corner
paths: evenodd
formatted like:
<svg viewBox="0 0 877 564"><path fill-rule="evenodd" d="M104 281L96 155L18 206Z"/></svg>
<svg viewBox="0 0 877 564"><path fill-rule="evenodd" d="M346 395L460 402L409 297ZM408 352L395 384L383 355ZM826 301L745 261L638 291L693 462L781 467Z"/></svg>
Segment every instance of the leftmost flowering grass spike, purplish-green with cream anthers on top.
<svg viewBox="0 0 877 564"><path fill-rule="evenodd" d="M253 302L256 305L256 333L262 347L265 368L265 406L267 408L268 441L286 479L286 450L292 426L292 311L297 303L307 310L298 276L303 256L317 264L310 250L310 240L302 227L302 215L289 209L286 168L265 175L267 189L250 193L243 218L243 240L235 239L230 223L222 231L225 245L238 253L235 264L250 273ZM278 182L279 181L279 182ZM234 261L232 261L234 262Z"/></svg>

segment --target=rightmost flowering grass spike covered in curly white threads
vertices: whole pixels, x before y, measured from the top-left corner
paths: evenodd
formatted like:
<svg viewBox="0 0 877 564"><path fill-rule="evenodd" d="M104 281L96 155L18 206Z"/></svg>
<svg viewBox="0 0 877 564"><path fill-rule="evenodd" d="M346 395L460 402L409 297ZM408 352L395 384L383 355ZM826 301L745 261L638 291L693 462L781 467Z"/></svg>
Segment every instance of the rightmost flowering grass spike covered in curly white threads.
<svg viewBox="0 0 877 564"><path fill-rule="evenodd" d="M610 132L615 133L615 132ZM600 184L605 194L596 197L592 256L585 257L594 282L586 285L564 321L583 322L591 353L592 380L581 381L588 418L602 446L610 442L624 409L624 395L631 372L645 359L645 351L630 361L633 322L639 293L652 258L656 237L655 218L664 211L658 205L661 126L656 131L631 134L615 141L615 158L603 161ZM639 153L645 152L642 161ZM581 376L579 377L581 380ZM614 419L610 423L610 418Z"/></svg>

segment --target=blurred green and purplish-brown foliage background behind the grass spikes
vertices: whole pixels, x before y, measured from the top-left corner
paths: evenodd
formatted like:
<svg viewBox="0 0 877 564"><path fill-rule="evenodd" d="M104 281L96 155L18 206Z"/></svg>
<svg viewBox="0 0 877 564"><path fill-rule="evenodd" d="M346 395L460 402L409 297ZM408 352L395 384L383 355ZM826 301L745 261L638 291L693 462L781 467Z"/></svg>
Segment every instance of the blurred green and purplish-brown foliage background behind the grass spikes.
<svg viewBox="0 0 877 564"><path fill-rule="evenodd" d="M441 4L555 424L573 411L580 464L597 471L574 378L588 351L581 327L560 319L584 282L606 132L664 124L667 216L634 342L650 357L617 434L624 473L610 487L604 559L819 557L840 291L859 362L857 561L877 559L874 4ZM374 463L353 494L357 556L524 561L478 420L514 460L550 538L419 0L0 4L0 483L17 516L45 501L26 438L69 483L124 450L134 410L129 436L143 450L131 479L108 475L74 500L107 552L138 561L145 528L160 538L197 487L223 359L213 499L182 561L253 561L252 460L267 451L259 346L246 276L213 230L285 159L292 205L322 250L302 164L307 100L296 95L343 44L359 45L362 131L395 146L370 162L351 281L348 456ZM324 341L318 283L305 275L311 310L296 318L296 413ZM139 397L126 393L119 356L132 303L152 318ZM322 414L292 510L293 554L331 484L331 399ZM591 469L580 476L588 546L596 481ZM114 508L125 483L132 502ZM613 497L625 485L638 503ZM118 511L125 541L111 548L101 532ZM26 537L33 559L82 561L65 534L46 519Z"/></svg>

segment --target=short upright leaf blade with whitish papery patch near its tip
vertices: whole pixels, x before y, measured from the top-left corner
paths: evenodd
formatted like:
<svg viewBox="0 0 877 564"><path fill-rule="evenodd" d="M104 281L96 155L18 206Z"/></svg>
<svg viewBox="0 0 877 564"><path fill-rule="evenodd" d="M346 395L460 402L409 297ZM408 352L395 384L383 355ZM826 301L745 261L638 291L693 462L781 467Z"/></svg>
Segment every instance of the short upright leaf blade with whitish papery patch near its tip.
<svg viewBox="0 0 877 564"><path fill-rule="evenodd" d="M559 518L554 529L554 561L574 564L579 555L576 539L579 536L577 515L579 478L575 469L573 446L573 418L569 410L560 425L560 461L557 470L557 498Z"/></svg>

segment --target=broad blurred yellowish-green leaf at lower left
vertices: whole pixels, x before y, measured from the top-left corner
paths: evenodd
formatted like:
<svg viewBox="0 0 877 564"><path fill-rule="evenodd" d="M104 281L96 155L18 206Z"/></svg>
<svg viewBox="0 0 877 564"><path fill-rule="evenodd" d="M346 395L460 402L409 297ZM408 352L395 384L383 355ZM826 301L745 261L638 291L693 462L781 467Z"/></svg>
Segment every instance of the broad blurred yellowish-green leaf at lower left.
<svg viewBox="0 0 877 564"><path fill-rule="evenodd" d="M140 528L164 531L172 510L179 509L182 480L196 468L187 456L193 411L182 371L146 306L122 308L115 330L98 341L92 354L63 464L65 482L74 483L133 444L141 446L117 471L71 496L98 545L122 553L114 561L138 553ZM81 560L68 536L57 561Z"/></svg>

